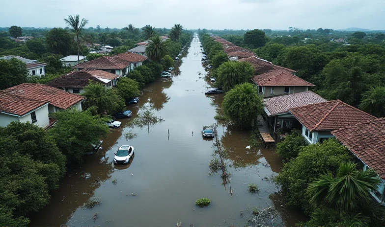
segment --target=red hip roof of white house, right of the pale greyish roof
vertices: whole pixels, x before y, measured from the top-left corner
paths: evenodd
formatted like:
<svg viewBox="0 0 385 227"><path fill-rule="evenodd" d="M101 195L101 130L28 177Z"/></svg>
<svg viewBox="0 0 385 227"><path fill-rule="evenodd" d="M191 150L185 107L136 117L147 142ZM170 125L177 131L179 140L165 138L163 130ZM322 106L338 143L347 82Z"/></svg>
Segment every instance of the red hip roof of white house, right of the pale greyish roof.
<svg viewBox="0 0 385 227"><path fill-rule="evenodd" d="M341 100L293 108L290 112L310 131L332 131L377 119Z"/></svg>

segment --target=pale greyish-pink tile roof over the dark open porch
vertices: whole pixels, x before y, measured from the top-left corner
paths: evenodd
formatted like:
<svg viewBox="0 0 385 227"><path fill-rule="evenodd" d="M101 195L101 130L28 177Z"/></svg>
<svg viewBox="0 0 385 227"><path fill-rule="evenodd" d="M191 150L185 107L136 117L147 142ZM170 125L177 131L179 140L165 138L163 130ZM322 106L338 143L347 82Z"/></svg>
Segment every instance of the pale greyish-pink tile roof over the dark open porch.
<svg viewBox="0 0 385 227"><path fill-rule="evenodd" d="M266 98L263 100L263 103L265 104L265 112L269 116L288 113L289 109L292 108L322 102L327 102L327 100L314 93L313 91L303 91L294 94Z"/></svg>

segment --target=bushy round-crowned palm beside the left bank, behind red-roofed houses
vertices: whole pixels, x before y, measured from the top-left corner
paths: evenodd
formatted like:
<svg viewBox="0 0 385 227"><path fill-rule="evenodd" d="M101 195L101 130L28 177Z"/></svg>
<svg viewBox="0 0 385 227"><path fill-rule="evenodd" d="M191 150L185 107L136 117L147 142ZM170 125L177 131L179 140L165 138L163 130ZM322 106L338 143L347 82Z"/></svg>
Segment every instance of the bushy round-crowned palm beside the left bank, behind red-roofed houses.
<svg viewBox="0 0 385 227"><path fill-rule="evenodd" d="M150 39L146 47L146 55L154 62L161 62L170 51L170 43L163 41L160 36L154 36Z"/></svg>

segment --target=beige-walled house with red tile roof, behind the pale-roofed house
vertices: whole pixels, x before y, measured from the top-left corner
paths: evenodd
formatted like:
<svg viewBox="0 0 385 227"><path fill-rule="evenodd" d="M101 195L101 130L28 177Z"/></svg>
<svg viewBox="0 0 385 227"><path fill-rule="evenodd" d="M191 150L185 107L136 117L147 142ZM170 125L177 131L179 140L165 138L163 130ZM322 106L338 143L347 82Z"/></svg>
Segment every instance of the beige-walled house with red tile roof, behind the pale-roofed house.
<svg viewBox="0 0 385 227"><path fill-rule="evenodd" d="M308 91L309 87L314 87L313 84L285 69L275 69L255 75L251 80L256 84L258 93L264 98Z"/></svg>

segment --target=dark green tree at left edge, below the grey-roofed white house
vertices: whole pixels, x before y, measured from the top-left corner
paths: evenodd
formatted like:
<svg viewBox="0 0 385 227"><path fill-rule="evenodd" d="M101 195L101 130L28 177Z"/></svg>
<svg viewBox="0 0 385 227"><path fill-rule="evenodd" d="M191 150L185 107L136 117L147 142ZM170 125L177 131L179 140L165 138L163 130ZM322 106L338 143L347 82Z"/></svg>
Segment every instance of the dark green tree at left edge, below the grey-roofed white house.
<svg viewBox="0 0 385 227"><path fill-rule="evenodd" d="M0 90L7 89L28 81L26 64L19 59L0 59Z"/></svg>

